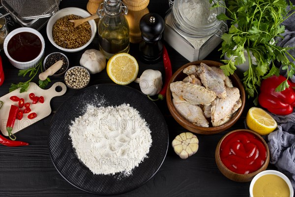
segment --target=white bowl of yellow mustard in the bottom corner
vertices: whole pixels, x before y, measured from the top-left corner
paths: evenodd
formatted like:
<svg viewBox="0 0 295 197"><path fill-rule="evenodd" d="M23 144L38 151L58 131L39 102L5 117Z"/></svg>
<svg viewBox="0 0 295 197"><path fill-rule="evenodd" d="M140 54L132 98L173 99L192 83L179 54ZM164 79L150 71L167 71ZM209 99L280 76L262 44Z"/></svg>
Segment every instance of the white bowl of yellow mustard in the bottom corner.
<svg viewBox="0 0 295 197"><path fill-rule="evenodd" d="M250 184L250 197L293 197L294 190L289 178L276 170L258 173Z"/></svg>

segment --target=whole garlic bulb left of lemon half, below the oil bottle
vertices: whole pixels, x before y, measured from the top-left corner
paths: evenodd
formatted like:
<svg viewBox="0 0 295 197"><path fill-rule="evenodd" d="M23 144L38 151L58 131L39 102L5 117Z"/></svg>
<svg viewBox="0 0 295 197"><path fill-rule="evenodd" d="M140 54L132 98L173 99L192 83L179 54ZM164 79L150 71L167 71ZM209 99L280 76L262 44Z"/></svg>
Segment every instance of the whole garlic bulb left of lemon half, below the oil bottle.
<svg viewBox="0 0 295 197"><path fill-rule="evenodd" d="M88 49L82 54L80 65L88 69L90 74L95 74L105 69L106 58L100 51Z"/></svg>

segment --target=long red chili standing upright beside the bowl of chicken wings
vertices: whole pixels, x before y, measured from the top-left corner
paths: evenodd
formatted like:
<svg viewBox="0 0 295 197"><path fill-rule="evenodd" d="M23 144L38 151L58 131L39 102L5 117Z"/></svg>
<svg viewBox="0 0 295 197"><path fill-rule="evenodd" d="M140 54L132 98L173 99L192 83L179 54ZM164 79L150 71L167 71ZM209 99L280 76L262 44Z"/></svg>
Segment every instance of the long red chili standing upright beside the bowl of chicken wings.
<svg viewBox="0 0 295 197"><path fill-rule="evenodd" d="M158 94L158 99L151 99L149 96L148 98L156 101L156 100L164 100L166 97L166 92L167 92L167 87L169 84L169 81L172 77L172 66L171 66L171 61L169 59L169 55L168 55L168 51L166 49L166 47L163 45L163 62L164 62L164 68L165 68L165 83L164 86L162 88L162 90L160 91L160 93Z"/></svg>

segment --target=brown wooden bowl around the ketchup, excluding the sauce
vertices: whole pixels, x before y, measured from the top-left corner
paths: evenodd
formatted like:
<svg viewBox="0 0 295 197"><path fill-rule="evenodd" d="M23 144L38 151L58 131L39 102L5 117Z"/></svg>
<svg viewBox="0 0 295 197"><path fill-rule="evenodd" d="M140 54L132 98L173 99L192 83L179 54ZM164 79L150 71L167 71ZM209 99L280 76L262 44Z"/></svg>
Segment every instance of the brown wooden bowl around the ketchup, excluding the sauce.
<svg viewBox="0 0 295 197"><path fill-rule="evenodd" d="M236 172L231 171L230 169L228 169L222 162L220 159L220 155L219 155L219 149L220 149L220 145L222 143L222 141L231 133L233 132L240 132L240 131L246 131L246 132L251 132L254 135L256 135L265 145L266 147L266 151L267 151L267 156L266 156L266 161L265 163L256 171L249 173L249 174L238 174ZM249 182L253 179L253 177L258 174L261 171L266 170L268 163L269 163L269 149L267 146L266 141L256 132L251 131L251 130L246 130L246 129L241 129L241 130L235 130L235 131L231 131L228 132L227 134L225 134L220 141L218 142L217 146L216 146L216 150L215 150L215 162L217 164L218 169L220 170L220 172L226 176L227 178L233 180L233 181L237 181L237 182Z"/></svg>

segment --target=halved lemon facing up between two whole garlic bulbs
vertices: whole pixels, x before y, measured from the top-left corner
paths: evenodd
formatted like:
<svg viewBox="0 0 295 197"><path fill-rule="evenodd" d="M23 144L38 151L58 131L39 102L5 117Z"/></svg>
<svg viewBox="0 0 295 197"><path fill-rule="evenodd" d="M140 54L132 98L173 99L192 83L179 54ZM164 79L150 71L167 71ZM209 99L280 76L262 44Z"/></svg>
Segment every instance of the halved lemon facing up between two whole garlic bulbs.
<svg viewBox="0 0 295 197"><path fill-rule="evenodd" d="M118 53L108 61L107 73L115 83L127 85L136 79L138 63L130 54Z"/></svg>

